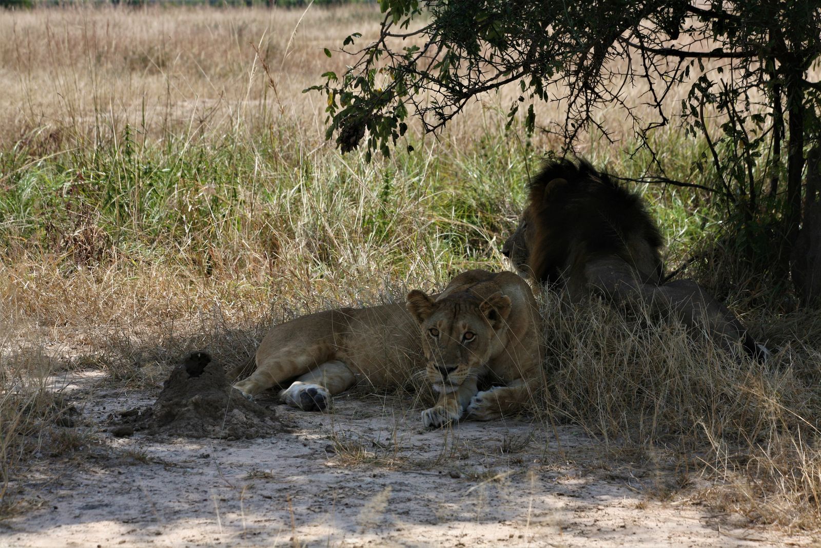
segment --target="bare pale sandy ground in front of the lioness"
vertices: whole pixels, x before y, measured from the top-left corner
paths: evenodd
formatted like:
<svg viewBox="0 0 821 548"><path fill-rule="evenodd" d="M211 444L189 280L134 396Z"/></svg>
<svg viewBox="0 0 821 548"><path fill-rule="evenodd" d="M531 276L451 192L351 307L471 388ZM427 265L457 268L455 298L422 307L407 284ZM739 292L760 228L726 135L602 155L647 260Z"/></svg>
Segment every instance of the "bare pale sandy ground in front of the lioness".
<svg viewBox="0 0 821 548"><path fill-rule="evenodd" d="M57 382L97 424L158 394L90 374ZM0 546L819 546L685 496L659 500L674 477L663 459L613 463L575 427L427 431L410 402L362 393L332 413L261 403L293 430L107 434L79 463L19 480L41 504L0 525Z"/></svg>

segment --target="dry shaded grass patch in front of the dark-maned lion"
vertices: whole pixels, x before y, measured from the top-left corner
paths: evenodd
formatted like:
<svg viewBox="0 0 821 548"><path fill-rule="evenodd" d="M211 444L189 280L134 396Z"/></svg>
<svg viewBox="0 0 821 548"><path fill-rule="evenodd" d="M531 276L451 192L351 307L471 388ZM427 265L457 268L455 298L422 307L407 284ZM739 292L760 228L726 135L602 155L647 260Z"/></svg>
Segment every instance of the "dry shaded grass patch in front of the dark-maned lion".
<svg viewBox="0 0 821 548"><path fill-rule="evenodd" d="M616 455L674 451L713 482L694 500L759 523L818 527L821 352L792 346L818 340L817 313L764 326L779 352L759 364L641 308L572 306L554 293L543 306L548 417L584 426ZM665 498L689 484L683 478Z"/></svg>

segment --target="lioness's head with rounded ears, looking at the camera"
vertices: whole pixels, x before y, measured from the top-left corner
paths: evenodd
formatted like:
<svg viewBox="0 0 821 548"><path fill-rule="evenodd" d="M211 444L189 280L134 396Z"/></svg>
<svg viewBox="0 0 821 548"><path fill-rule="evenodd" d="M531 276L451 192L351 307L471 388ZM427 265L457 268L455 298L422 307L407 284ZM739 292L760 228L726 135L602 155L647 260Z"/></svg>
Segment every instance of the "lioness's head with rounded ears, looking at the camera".
<svg viewBox="0 0 821 548"><path fill-rule="evenodd" d="M447 394L483 375L488 359L500 352L511 299L501 292L482 298L468 291L433 299L415 289L406 306L422 331L428 379Z"/></svg>

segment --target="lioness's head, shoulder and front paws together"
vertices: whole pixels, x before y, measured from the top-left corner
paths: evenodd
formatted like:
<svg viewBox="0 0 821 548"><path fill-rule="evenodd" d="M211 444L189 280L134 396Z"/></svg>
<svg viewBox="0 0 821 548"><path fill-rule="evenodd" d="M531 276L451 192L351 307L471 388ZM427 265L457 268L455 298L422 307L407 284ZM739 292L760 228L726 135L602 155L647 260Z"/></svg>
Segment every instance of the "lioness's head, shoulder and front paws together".
<svg viewBox="0 0 821 548"><path fill-rule="evenodd" d="M463 414L487 421L532 401L542 357L539 312L516 274L470 270L438 298L410 292L407 306L420 323L428 379L439 393L436 405L422 413L425 426ZM466 334L473 335L470 341ZM503 386L479 392L483 378Z"/></svg>

